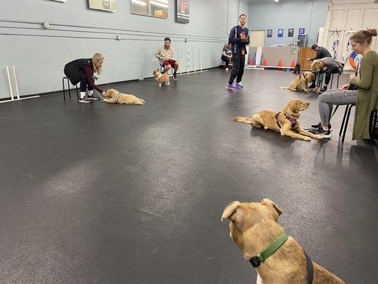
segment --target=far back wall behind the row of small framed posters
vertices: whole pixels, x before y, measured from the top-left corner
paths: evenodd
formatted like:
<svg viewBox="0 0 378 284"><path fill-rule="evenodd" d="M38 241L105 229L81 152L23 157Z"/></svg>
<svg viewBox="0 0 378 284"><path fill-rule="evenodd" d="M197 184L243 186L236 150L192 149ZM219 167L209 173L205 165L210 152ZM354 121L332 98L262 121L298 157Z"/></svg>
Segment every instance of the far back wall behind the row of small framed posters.
<svg viewBox="0 0 378 284"><path fill-rule="evenodd" d="M273 44L296 44L299 28L308 34L308 46L316 43L320 27L325 25L328 0L255 0L250 4L251 30L272 28L272 38L265 38L265 46ZM279 28L284 29L284 37L278 38ZM294 37L287 36L289 28L294 28Z"/></svg>

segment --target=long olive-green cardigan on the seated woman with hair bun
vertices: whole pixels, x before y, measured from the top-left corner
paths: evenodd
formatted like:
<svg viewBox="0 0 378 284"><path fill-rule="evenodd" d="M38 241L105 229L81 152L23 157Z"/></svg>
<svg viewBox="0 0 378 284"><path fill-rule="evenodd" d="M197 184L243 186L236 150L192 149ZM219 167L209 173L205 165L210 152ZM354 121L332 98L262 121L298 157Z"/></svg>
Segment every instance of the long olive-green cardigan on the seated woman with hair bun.
<svg viewBox="0 0 378 284"><path fill-rule="evenodd" d="M360 87L357 94L353 140L369 139L369 118L374 108L378 107L378 54L369 51L361 60L360 79L350 81Z"/></svg>

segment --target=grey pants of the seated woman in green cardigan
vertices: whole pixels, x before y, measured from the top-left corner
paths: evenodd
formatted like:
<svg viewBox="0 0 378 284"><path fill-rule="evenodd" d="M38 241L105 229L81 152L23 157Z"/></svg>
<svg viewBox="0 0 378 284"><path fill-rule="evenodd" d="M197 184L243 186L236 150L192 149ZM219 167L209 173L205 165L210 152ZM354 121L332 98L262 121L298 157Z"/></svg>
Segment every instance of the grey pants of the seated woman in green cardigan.
<svg viewBox="0 0 378 284"><path fill-rule="evenodd" d="M356 104L358 90L348 89L330 89L318 97L319 114L321 116L321 125L330 124L330 115L332 114L333 104L338 106L344 104Z"/></svg>

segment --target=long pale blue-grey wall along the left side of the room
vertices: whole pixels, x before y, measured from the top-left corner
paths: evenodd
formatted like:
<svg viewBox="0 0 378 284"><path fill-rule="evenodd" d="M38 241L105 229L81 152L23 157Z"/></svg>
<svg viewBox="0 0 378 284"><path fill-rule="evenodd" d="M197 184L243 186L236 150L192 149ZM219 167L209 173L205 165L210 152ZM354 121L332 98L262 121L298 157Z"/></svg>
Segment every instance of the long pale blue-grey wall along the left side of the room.
<svg viewBox="0 0 378 284"><path fill-rule="evenodd" d="M10 96L7 65L16 66L21 95L52 92L62 89L65 63L96 52L105 57L100 84L151 77L157 67L153 53L167 35L177 59L180 48L186 56L187 48L193 52L202 47L203 67L217 66L229 30L238 23L240 11L248 12L248 4L191 0L187 25L175 23L174 4L169 0L169 18L162 19L131 14L130 0L118 0L114 13L90 10L87 0L1 0L0 99ZM41 28L44 21L49 29ZM187 70L186 61L183 58L181 70ZM189 60L189 70L193 65Z"/></svg>

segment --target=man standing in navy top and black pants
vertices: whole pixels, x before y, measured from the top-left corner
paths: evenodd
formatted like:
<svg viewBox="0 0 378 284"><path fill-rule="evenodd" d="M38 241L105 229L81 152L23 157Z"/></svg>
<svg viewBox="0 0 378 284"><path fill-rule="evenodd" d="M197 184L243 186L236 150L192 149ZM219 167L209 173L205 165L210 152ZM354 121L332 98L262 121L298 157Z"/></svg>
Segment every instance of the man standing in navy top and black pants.
<svg viewBox="0 0 378 284"><path fill-rule="evenodd" d="M230 80L226 86L228 90L242 89L242 77L244 73L245 55L247 54L246 45L250 44L250 31L245 28L247 16L241 14L239 17L239 25L231 29L228 37L228 42L231 43L231 50L233 51L233 70L230 75ZM234 80L236 78L236 84Z"/></svg>

